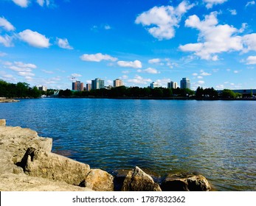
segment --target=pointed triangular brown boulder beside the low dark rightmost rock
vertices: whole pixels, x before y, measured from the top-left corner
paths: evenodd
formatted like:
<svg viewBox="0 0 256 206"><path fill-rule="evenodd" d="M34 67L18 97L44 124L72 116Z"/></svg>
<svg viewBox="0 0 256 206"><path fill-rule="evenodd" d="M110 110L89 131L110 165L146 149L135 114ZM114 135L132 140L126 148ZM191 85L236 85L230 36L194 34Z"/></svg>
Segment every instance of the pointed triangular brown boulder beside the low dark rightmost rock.
<svg viewBox="0 0 256 206"><path fill-rule="evenodd" d="M161 191L161 188L151 176L136 166L128 172L121 191Z"/></svg>

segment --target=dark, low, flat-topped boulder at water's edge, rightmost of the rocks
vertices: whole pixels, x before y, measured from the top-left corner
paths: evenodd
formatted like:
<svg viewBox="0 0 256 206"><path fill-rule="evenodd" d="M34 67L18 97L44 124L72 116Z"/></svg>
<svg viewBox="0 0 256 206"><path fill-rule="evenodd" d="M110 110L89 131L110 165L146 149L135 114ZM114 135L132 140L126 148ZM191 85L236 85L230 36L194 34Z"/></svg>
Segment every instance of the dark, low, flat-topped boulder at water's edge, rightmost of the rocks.
<svg viewBox="0 0 256 206"><path fill-rule="evenodd" d="M201 174L167 174L162 191L211 191L210 183Z"/></svg>

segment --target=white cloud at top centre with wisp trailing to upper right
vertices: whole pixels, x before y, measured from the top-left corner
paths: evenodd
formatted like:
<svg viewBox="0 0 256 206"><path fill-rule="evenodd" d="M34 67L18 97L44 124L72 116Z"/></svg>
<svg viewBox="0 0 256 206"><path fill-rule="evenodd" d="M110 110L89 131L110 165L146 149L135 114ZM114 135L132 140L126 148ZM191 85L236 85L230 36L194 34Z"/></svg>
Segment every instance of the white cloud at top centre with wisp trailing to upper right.
<svg viewBox="0 0 256 206"><path fill-rule="evenodd" d="M146 26L154 38L159 40L171 39L175 36L175 27L179 27L181 17L193 6L194 4L190 4L189 1L182 1L178 7L153 7L151 10L138 15L135 23Z"/></svg>

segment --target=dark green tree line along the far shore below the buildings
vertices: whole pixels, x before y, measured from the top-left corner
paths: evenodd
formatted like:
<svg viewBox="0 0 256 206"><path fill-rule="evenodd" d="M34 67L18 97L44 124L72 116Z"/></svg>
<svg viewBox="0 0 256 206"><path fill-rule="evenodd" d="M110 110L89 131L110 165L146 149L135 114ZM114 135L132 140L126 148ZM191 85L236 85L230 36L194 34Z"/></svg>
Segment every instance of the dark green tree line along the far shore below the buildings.
<svg viewBox="0 0 256 206"><path fill-rule="evenodd" d="M55 90L38 90L37 87L30 87L26 82L17 84L8 83L0 79L0 96L7 98L38 98L41 95L52 96ZM218 93L214 88L198 87L196 91L190 89L170 88L139 88L139 87L117 87L111 89L98 89L90 91L59 90L58 97L102 97L102 98L187 98L187 99L238 99L241 93L224 89Z"/></svg>

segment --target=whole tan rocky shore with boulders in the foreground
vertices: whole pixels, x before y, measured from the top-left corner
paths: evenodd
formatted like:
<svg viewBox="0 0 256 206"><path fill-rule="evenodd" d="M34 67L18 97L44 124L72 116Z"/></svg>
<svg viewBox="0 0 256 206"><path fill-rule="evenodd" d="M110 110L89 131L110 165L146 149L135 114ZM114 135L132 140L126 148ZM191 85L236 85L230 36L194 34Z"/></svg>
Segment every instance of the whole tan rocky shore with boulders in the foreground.
<svg viewBox="0 0 256 206"><path fill-rule="evenodd" d="M52 138L7 127L0 119L0 191L211 191L201 174L167 174L159 181L135 167L115 176L52 153Z"/></svg>

